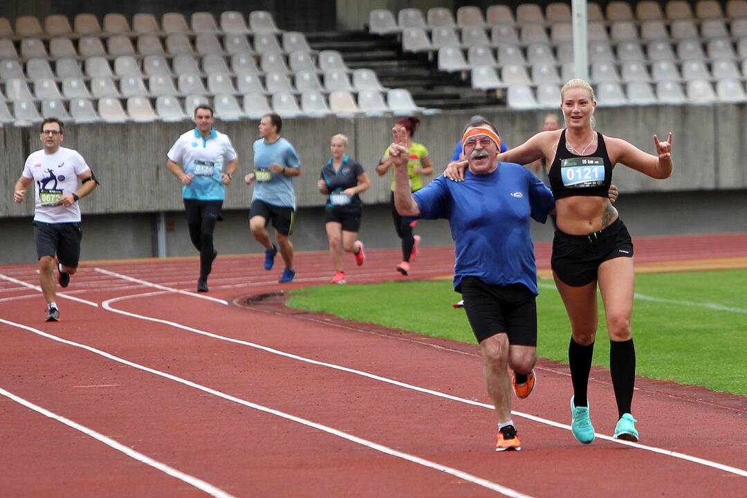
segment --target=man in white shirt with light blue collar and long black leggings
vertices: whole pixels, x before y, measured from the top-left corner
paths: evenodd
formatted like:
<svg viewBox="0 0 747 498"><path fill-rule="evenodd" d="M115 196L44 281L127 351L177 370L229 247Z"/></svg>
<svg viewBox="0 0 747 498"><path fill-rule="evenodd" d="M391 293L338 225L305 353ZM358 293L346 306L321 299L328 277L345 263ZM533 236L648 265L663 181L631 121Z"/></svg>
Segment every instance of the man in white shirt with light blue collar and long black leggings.
<svg viewBox="0 0 747 498"><path fill-rule="evenodd" d="M213 247L215 222L226 199L226 185L238 168L238 155L228 135L213 128L213 108L198 105L195 128L182 134L167 154L166 165L182 182L190 239L199 251L197 292L208 292L208 275L218 255Z"/></svg>

